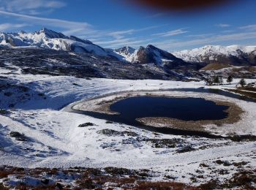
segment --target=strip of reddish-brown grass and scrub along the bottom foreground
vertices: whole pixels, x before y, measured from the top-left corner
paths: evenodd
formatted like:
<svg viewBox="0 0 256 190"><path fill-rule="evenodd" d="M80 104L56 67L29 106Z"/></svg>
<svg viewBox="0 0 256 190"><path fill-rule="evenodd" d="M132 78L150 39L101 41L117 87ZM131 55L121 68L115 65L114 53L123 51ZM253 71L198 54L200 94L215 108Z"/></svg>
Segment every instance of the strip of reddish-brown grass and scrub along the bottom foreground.
<svg viewBox="0 0 256 190"><path fill-rule="evenodd" d="M224 162L223 162L224 163ZM236 163L238 166L245 165L246 163ZM145 172L147 175L150 170L127 170L124 168L70 168L64 169L49 169L49 168L35 168L35 169L23 169L16 167L1 167L1 177L6 178L8 175L23 175L28 177L35 175L35 178L40 179L41 172L48 172L55 175L59 172L63 173L77 173L79 172L80 177L74 179L72 183L62 183L60 180L55 180L54 183L44 184L41 183L38 186L28 186L23 183L22 178L20 178L20 183L15 187L5 187L0 183L0 189L255 189L254 184L256 183L256 170L241 170L236 172L229 179L220 183L218 180L209 180L200 186L189 186L185 183L177 183L175 181L148 181L151 178L143 178L140 174ZM38 174L38 175L36 175ZM197 176L197 178L199 178ZM107 185L108 183L108 185ZM75 185L75 186L74 186Z"/></svg>

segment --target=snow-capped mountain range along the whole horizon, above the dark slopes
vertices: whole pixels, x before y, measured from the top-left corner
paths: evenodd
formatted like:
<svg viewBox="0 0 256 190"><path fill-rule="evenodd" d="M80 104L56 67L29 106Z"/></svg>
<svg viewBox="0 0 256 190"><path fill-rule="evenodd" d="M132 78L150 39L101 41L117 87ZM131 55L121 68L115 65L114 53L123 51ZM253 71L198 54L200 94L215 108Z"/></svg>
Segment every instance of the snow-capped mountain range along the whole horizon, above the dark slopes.
<svg viewBox="0 0 256 190"><path fill-rule="evenodd" d="M105 49L93 42L78 37L67 37L48 28L42 28L34 33L0 33L0 45L4 47L40 47L52 50L64 50L74 53L91 53L97 56L117 58L135 64L157 65L172 64L230 64L236 66L256 65L256 46L219 46L207 45L192 50L181 50L169 53L153 45L140 46L138 50L132 47L121 47L116 50ZM200 66L199 66L200 67Z"/></svg>

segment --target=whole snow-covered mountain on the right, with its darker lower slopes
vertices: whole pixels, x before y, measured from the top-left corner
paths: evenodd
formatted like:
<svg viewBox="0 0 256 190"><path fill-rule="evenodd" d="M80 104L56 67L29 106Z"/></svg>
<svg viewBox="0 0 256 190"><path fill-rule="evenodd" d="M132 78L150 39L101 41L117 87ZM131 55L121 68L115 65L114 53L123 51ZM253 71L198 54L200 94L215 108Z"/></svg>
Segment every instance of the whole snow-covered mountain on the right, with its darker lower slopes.
<svg viewBox="0 0 256 190"><path fill-rule="evenodd" d="M222 63L222 64L256 64L256 46L241 45L206 45L192 50L173 53L184 61Z"/></svg>

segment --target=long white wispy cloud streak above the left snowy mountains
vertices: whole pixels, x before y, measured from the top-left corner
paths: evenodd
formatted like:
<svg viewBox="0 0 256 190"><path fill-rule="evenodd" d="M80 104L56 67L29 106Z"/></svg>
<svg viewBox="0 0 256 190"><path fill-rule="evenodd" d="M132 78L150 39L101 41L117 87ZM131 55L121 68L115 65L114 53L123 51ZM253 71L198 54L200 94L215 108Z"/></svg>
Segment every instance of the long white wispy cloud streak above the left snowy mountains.
<svg viewBox="0 0 256 190"><path fill-rule="evenodd" d="M118 47L121 45L138 45L139 43L145 42L144 39L129 38L127 35L135 34L139 31L146 31L151 28L158 28L161 26L149 26L146 28L128 29L124 31L99 31L94 29L89 23L73 22L69 20L60 20L54 18L42 18L32 15L24 15L15 12L7 12L0 10L0 15L6 15L12 18L17 18L23 22L37 26L49 26L62 28L62 33L66 35L75 35L77 37L83 37L86 39L100 38L103 40L97 40L95 42L99 45L106 45L107 47ZM4 26L3 26L4 27ZM7 28L7 26L6 26ZM21 27L20 27L21 28ZM112 38L112 39L111 39Z"/></svg>

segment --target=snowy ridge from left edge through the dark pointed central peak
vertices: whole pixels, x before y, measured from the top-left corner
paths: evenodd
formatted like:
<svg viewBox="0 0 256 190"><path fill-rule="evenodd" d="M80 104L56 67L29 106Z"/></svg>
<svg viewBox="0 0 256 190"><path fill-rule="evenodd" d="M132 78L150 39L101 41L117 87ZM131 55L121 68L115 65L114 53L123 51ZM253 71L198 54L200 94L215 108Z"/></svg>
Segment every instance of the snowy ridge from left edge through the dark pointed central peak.
<svg viewBox="0 0 256 190"><path fill-rule="evenodd" d="M162 64L177 60L175 56L165 50L161 50L153 45L140 47L135 50L132 47L125 46L116 50L105 49L95 45L89 40L78 37L67 37L48 28L35 31L34 33L0 33L0 46L4 47L39 47L51 50L64 50L74 53L91 53L97 56L108 56L117 58L120 61L141 64Z"/></svg>

